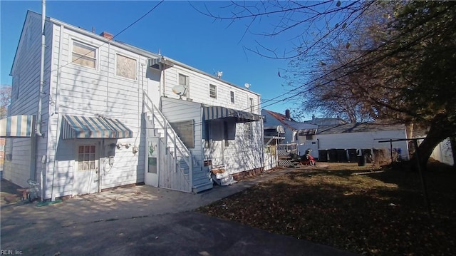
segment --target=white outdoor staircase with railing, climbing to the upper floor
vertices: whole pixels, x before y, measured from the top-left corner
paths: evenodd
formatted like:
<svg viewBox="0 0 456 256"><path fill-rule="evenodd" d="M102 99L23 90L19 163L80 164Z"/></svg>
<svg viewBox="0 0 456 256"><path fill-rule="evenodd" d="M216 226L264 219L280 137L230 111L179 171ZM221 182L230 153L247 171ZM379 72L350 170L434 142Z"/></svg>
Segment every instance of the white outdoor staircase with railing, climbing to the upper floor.
<svg viewBox="0 0 456 256"><path fill-rule="evenodd" d="M202 166L201 161L196 160L191 151L182 143L179 136L170 126L162 112L152 103L149 96L145 92L144 109L146 121L152 124L155 136L162 138L165 144L165 154L170 155L173 170L162 168L163 172L175 172L180 175L180 178L185 182L173 184L170 181L167 184L162 184L160 187L170 188L172 190L180 190L187 193L199 193L212 188L212 178L210 178L209 168ZM159 183L160 184L160 183Z"/></svg>

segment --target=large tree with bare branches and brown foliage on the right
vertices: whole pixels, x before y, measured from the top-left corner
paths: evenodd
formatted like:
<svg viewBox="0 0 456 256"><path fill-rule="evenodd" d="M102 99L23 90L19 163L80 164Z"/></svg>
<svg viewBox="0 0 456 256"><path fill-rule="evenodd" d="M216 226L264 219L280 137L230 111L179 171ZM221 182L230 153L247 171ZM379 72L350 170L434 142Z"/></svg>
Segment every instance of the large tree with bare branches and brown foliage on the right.
<svg viewBox="0 0 456 256"><path fill-rule="evenodd" d="M421 164L456 127L456 2L261 1L232 2L230 16L247 20L244 34L264 36L247 51L288 58L291 92L306 108L351 121L388 118L428 129L416 152ZM204 11L202 11L204 10ZM266 33L256 24L271 19ZM268 46L282 36L292 48Z"/></svg>

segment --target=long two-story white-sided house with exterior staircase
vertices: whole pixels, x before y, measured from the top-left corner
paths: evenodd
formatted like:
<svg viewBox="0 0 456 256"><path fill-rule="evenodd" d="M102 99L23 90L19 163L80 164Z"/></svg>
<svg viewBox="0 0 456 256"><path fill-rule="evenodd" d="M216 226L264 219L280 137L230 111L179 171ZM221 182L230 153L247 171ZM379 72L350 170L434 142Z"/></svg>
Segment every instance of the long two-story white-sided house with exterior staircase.
<svg viewBox="0 0 456 256"><path fill-rule="evenodd" d="M6 136L4 178L37 180L53 200L135 183L199 192L212 188L212 168L228 180L262 170L259 94L105 32L46 17L44 35L40 88L41 15L28 11L9 118L40 125Z"/></svg>

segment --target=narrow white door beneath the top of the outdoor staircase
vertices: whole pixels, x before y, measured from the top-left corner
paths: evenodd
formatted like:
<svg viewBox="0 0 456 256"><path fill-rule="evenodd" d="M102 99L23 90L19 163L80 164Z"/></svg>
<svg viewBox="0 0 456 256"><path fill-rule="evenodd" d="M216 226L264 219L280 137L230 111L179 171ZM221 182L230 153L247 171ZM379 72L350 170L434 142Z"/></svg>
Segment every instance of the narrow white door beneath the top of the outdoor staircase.
<svg viewBox="0 0 456 256"><path fill-rule="evenodd" d="M145 184L158 187L160 138L147 138Z"/></svg>

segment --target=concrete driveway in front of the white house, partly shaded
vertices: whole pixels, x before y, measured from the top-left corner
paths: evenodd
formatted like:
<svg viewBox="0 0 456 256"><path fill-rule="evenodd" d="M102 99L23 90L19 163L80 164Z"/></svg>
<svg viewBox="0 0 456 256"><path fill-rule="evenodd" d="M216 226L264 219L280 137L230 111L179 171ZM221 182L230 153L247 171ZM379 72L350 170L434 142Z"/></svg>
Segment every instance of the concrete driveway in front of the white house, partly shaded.
<svg viewBox="0 0 456 256"><path fill-rule="evenodd" d="M13 255L353 255L192 211L288 171L196 195L140 185L41 207L3 204L0 249Z"/></svg>

